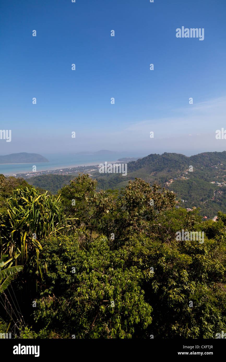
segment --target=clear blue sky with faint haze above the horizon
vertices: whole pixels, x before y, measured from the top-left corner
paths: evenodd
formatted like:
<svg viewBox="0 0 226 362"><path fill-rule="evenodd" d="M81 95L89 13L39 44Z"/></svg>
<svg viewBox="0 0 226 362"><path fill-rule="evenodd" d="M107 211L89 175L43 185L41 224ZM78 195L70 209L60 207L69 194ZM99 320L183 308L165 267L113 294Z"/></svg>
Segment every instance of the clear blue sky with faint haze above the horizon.
<svg viewBox="0 0 226 362"><path fill-rule="evenodd" d="M12 130L1 155L226 150L226 140L215 139L226 129L225 1L0 6L0 129ZM204 28L204 40L176 38L182 26Z"/></svg>

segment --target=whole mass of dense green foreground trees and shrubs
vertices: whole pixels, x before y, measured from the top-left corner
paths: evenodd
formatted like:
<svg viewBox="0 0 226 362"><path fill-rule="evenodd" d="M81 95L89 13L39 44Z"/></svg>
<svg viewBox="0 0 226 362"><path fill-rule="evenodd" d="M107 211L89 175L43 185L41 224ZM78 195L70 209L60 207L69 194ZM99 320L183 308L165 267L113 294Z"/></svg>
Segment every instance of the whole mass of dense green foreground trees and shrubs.
<svg viewBox="0 0 226 362"><path fill-rule="evenodd" d="M138 178L98 191L79 175L56 196L15 180L9 194L0 180L1 333L149 339L225 330L226 214L202 222L197 209L176 209L172 191ZM204 243L177 240L180 230L204 232Z"/></svg>

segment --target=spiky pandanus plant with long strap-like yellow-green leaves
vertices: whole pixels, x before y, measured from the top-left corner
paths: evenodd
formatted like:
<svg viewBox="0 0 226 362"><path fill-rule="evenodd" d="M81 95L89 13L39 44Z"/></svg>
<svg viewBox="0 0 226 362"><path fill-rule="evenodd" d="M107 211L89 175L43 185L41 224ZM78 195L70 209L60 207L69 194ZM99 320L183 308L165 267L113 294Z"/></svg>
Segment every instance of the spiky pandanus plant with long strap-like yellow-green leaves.
<svg viewBox="0 0 226 362"><path fill-rule="evenodd" d="M69 225L72 219L63 214L60 195L54 198L47 191L39 194L35 188L16 189L7 200L7 212L7 217L0 212L0 257L7 254L8 262L15 266L24 265L29 257L34 257L41 273L40 241L59 233L66 235L74 229Z"/></svg>

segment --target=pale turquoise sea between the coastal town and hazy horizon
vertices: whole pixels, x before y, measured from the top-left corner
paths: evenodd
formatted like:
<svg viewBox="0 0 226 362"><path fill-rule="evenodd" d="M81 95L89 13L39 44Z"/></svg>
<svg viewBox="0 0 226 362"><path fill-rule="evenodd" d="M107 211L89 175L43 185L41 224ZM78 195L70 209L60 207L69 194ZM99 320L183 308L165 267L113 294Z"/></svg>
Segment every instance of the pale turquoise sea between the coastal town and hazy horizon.
<svg viewBox="0 0 226 362"><path fill-rule="evenodd" d="M9 176L18 173L29 173L33 171L32 168L34 165L36 166L36 172L38 172L58 170L76 166L97 165L99 163L104 163L105 161L112 163L123 157L141 157L140 155L131 155L131 153L127 152L112 154L110 156L95 154L78 155L73 153L59 155L45 154L42 156L46 157L49 162L0 164L0 174L3 173L5 176Z"/></svg>

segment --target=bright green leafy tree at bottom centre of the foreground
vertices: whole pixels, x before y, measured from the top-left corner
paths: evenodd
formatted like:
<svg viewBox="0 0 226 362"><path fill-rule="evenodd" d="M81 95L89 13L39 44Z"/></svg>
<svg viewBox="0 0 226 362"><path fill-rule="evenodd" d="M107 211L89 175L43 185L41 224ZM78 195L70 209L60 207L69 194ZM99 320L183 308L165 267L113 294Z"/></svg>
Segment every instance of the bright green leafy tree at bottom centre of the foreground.
<svg viewBox="0 0 226 362"><path fill-rule="evenodd" d="M96 241L86 252L73 237L60 237L46 240L42 254L48 273L34 311L40 326L70 338L131 338L135 326L151 323L143 273L125 267L124 252Z"/></svg>

